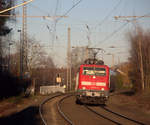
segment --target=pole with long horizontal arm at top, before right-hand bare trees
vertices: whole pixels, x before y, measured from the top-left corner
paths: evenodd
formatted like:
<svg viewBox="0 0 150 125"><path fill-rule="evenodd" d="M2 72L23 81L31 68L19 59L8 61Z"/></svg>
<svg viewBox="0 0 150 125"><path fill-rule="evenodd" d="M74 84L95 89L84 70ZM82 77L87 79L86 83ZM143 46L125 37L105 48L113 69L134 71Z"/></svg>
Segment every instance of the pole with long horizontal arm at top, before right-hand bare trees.
<svg viewBox="0 0 150 125"><path fill-rule="evenodd" d="M139 58L140 58L140 71L141 71L141 82L142 82L142 90L145 89L145 83L144 83L144 70L143 70L143 56L142 56L142 41L141 41L141 32L139 30L139 27L136 24L136 18L143 18L143 17L150 17L150 16L115 16L114 18L117 20L118 18L134 18L133 20L125 20L128 22L134 21L136 33L138 35L138 47L139 47Z"/></svg>

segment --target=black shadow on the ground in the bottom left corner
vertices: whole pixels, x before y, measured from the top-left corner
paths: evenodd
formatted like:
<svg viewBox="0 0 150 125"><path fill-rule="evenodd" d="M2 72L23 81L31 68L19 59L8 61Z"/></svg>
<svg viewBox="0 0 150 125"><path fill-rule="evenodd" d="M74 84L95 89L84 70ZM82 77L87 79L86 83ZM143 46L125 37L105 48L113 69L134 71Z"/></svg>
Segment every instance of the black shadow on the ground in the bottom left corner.
<svg viewBox="0 0 150 125"><path fill-rule="evenodd" d="M37 106L28 107L21 112L0 118L1 125L43 125Z"/></svg>

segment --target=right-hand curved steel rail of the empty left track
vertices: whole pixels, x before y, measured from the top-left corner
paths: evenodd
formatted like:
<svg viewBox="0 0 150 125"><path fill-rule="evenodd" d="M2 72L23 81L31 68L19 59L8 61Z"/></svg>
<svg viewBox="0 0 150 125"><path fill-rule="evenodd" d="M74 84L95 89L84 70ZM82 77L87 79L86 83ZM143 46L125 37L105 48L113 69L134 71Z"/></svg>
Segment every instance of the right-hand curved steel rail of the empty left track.
<svg viewBox="0 0 150 125"><path fill-rule="evenodd" d="M65 97L63 97L58 103L57 103L57 108L58 108L58 111L59 113L61 114L61 116L70 124L70 125L74 125L74 123L65 115L65 113L61 110L61 103L62 101L64 101L66 98L72 96L71 95L67 95Z"/></svg>

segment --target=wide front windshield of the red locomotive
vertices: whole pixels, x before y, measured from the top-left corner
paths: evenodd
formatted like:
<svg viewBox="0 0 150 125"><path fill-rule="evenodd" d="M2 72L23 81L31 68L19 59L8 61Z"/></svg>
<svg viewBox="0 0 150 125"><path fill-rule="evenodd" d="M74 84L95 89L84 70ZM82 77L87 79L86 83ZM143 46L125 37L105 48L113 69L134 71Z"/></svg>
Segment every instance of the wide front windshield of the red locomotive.
<svg viewBox="0 0 150 125"><path fill-rule="evenodd" d="M106 76L106 69L99 67L83 67L83 75Z"/></svg>

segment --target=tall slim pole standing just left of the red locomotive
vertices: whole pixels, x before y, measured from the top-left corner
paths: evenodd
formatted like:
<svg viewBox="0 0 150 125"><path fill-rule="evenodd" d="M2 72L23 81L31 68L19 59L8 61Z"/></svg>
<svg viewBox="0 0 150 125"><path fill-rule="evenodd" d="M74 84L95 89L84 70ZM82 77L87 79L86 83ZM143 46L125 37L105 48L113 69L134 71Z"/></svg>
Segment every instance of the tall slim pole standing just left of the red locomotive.
<svg viewBox="0 0 150 125"><path fill-rule="evenodd" d="M68 28L68 49L67 49L67 90L71 89L71 42L70 27ZM69 87L70 85L70 87Z"/></svg>

